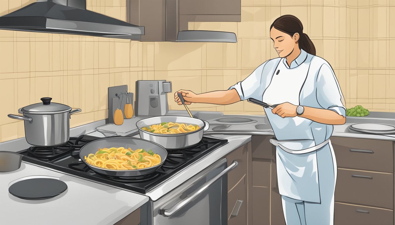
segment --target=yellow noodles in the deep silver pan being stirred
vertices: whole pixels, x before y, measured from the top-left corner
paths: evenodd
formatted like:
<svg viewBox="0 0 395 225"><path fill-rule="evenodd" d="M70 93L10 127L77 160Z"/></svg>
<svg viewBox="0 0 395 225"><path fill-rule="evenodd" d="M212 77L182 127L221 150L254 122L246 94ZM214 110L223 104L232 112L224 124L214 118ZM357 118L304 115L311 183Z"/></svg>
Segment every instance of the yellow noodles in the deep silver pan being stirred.
<svg viewBox="0 0 395 225"><path fill-rule="evenodd" d="M164 122L160 124L150 125L149 127L141 128L156 134L179 134L198 130L198 125L186 125L186 123L172 123Z"/></svg>

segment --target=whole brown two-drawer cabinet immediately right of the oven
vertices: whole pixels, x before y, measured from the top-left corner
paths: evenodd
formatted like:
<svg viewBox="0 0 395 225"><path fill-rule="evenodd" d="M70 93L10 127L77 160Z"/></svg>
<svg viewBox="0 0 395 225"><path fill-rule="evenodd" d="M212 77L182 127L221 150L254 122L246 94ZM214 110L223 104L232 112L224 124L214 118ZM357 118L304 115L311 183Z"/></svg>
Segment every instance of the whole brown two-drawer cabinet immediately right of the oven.
<svg viewBox="0 0 395 225"><path fill-rule="evenodd" d="M228 173L228 225L248 224L248 152L251 151L250 149L251 142L226 156L228 166L233 160L239 162L239 166Z"/></svg>

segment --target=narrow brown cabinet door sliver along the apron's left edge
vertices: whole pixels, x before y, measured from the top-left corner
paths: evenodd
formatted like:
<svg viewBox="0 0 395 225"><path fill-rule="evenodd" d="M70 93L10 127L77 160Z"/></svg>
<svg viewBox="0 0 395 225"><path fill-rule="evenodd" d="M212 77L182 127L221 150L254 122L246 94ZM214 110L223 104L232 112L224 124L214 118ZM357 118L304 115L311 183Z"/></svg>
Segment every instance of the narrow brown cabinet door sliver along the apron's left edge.
<svg viewBox="0 0 395 225"><path fill-rule="evenodd" d="M273 146L272 152L276 154L276 149ZM271 225L285 225L284 213L282 211L282 203L281 203L281 195L278 193L278 182L277 182L277 169L276 169L276 160L272 160L271 164L272 169L272 182L271 182L271 214L270 220Z"/></svg>

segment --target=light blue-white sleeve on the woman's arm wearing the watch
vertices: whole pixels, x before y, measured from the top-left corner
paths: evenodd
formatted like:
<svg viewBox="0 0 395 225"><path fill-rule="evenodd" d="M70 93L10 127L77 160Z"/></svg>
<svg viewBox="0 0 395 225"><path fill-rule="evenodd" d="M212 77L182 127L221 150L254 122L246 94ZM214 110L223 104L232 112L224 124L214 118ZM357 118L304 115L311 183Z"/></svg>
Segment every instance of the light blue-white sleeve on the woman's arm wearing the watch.
<svg viewBox="0 0 395 225"><path fill-rule="evenodd" d="M346 116L346 107L342 91L332 68L323 64L318 71L316 82L316 96L318 104L324 109L333 110L339 115Z"/></svg>

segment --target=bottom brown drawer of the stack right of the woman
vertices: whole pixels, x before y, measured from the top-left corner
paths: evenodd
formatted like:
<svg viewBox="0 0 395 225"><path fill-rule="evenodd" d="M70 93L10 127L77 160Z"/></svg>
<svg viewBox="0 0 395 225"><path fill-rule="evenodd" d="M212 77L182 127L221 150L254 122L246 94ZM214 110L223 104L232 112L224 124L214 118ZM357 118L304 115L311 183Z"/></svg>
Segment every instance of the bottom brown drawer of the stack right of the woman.
<svg viewBox="0 0 395 225"><path fill-rule="evenodd" d="M392 225L393 211L335 202L334 225Z"/></svg>

